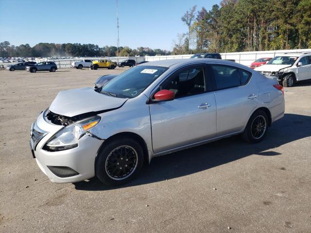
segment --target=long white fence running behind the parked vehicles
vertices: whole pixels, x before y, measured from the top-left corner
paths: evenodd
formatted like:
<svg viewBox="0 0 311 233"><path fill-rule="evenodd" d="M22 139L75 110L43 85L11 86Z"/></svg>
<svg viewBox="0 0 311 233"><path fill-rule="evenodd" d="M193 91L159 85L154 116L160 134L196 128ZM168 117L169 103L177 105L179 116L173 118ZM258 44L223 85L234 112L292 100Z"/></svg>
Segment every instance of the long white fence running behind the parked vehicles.
<svg viewBox="0 0 311 233"><path fill-rule="evenodd" d="M245 66L250 66L258 58L262 57L275 57L277 55L283 54L285 52L311 52L311 49L303 50L270 50L270 51L256 51L256 52L227 52L221 53L223 59L234 59L237 63ZM160 61L168 59L188 59L193 54L185 55L169 55L169 56L145 56L145 57L80 57L80 58L70 58L70 59L36 59L36 62L40 61L52 61L55 62L58 68L70 68L71 62L81 61L82 59L89 60L111 60L113 62L121 62L126 59L133 59L136 62L141 61Z"/></svg>

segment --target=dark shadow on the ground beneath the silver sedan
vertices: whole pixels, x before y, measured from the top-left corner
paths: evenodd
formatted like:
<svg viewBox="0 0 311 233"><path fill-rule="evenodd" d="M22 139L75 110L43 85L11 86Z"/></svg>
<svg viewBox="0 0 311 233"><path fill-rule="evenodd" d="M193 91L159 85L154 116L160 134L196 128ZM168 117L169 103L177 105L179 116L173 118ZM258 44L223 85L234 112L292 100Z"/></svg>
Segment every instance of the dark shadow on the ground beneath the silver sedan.
<svg viewBox="0 0 311 233"><path fill-rule="evenodd" d="M309 136L311 116L285 114L269 127L265 138L257 144L248 144L239 135L233 136L154 158L150 166L144 166L137 179L119 187L106 187L97 178L73 184L77 190L100 191L174 179L253 154L277 156L280 153L275 148Z"/></svg>

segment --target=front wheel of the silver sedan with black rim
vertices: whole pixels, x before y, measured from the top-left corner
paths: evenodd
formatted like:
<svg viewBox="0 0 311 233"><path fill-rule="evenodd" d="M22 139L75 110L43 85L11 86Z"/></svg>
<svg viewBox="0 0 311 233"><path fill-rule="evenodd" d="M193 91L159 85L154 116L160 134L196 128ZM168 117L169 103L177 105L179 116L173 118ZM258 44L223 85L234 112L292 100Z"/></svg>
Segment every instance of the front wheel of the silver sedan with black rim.
<svg viewBox="0 0 311 233"><path fill-rule="evenodd" d="M122 185L139 174L143 160L143 151L137 141L131 138L117 138L100 150L95 163L95 175L107 186Z"/></svg>

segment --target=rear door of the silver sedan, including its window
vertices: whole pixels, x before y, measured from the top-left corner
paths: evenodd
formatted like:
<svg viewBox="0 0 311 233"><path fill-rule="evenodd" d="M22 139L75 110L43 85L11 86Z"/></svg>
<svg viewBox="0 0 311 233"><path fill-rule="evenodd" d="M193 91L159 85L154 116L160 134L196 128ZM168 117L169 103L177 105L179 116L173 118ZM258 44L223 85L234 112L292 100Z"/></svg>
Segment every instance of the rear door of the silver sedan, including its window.
<svg viewBox="0 0 311 233"><path fill-rule="evenodd" d="M241 131L258 104L259 88L251 72L226 65L210 65L217 103L217 136Z"/></svg>

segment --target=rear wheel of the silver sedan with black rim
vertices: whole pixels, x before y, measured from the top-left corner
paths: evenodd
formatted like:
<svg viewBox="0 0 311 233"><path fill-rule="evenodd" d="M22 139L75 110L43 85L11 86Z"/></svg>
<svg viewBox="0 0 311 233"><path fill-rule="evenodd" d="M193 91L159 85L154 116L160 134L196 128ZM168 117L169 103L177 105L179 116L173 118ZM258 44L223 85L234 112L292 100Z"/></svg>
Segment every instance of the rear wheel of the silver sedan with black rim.
<svg viewBox="0 0 311 233"><path fill-rule="evenodd" d="M262 110L257 110L249 118L244 132L241 134L244 141L248 143L260 142L268 130L268 116Z"/></svg>

